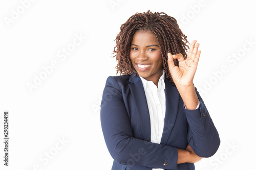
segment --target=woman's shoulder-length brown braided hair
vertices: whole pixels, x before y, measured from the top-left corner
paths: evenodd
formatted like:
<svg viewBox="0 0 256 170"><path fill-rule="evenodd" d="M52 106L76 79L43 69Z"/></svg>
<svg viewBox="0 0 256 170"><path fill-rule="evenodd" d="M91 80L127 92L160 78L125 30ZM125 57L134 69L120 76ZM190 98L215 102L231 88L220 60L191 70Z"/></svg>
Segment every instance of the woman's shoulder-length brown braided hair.
<svg viewBox="0 0 256 170"><path fill-rule="evenodd" d="M118 61L116 66L117 74L120 72L120 75L132 75L135 72L135 76L137 75L130 59L130 48L133 35L138 30L152 31L156 35L160 45L165 76L170 82L173 82L167 64L167 53L172 55L181 53L184 59L186 59L188 49L188 45L186 45L188 43L187 37L180 30L174 17L168 16L163 12L152 13L150 10L146 13L134 14L121 25L120 32L115 39L116 46L113 51L113 57L116 57ZM177 59L174 59L174 63L176 66L179 66Z"/></svg>

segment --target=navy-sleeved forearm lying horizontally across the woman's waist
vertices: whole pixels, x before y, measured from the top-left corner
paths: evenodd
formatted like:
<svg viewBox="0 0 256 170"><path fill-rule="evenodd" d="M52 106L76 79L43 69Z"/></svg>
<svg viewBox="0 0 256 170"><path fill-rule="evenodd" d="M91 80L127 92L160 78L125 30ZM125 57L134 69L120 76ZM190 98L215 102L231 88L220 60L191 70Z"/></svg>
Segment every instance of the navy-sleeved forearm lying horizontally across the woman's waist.
<svg viewBox="0 0 256 170"><path fill-rule="evenodd" d="M106 140L111 156L121 164L177 169L178 153L175 147L133 137L116 143L112 144L110 139ZM168 165L164 166L164 162L167 162Z"/></svg>

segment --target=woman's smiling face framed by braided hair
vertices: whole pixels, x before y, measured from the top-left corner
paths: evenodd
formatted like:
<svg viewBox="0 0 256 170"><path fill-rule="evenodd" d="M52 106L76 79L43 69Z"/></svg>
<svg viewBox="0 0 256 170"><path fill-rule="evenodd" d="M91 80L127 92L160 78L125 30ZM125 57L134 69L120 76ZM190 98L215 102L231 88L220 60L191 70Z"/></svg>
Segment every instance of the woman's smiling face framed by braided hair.
<svg viewBox="0 0 256 170"><path fill-rule="evenodd" d="M131 43L130 59L139 76L158 84L163 60L157 38L151 31L137 31Z"/></svg>

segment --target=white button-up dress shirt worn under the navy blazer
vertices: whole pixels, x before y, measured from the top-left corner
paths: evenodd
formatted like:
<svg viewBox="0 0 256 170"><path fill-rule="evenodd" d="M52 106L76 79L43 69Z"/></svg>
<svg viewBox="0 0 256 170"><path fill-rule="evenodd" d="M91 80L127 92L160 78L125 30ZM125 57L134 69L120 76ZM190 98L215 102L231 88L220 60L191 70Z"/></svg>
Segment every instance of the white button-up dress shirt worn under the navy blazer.
<svg viewBox="0 0 256 170"><path fill-rule="evenodd" d="M147 81L142 77L140 78L145 90L148 111L150 112L151 142L160 143L162 134L163 134L164 117L165 117L164 70L163 70L162 76L158 81L158 86L156 86L152 81ZM199 107L199 104L197 108L198 107ZM163 169L153 168L152 170L163 170Z"/></svg>

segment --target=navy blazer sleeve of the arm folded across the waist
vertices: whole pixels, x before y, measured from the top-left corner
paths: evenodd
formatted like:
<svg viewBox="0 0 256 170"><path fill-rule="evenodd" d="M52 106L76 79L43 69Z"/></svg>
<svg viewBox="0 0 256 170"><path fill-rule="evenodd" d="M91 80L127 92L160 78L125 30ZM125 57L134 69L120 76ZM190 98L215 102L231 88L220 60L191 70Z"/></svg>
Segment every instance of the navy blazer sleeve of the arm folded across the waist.
<svg viewBox="0 0 256 170"><path fill-rule="evenodd" d="M106 146L117 162L131 166L177 169L176 148L133 137L122 91L115 77L106 80L100 118Z"/></svg>

